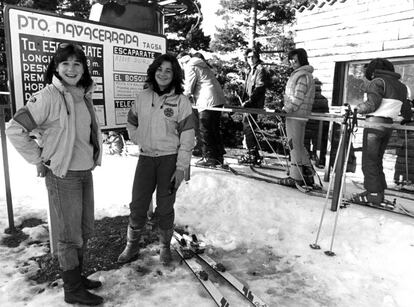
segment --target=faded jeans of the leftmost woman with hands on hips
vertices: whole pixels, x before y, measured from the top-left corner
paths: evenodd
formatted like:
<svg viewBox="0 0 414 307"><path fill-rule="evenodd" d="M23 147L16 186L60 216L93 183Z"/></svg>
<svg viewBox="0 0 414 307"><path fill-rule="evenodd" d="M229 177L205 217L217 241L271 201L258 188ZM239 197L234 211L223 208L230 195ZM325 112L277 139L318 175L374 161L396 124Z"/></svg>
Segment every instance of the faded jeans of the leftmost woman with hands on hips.
<svg viewBox="0 0 414 307"><path fill-rule="evenodd" d="M68 171L66 177L46 173L51 210L57 217L59 266L63 271L76 268L83 258L88 238L94 230L92 172Z"/></svg>

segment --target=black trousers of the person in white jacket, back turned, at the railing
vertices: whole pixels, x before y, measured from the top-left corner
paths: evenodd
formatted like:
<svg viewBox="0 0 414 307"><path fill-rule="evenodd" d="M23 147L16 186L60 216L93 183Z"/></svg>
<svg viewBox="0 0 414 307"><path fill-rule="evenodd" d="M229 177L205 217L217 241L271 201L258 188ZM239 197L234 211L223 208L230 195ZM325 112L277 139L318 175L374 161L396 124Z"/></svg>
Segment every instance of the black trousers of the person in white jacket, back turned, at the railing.
<svg viewBox="0 0 414 307"><path fill-rule="evenodd" d="M199 112L200 139L203 156L206 158L221 159L225 153L220 133L220 117L221 112L218 111Z"/></svg>

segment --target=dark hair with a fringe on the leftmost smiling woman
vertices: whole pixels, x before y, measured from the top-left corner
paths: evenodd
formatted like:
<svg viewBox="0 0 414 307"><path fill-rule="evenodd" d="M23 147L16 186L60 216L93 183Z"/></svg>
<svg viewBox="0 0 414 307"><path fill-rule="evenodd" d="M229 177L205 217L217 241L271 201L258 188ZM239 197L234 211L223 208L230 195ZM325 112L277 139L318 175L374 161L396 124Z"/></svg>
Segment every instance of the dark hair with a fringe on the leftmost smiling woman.
<svg viewBox="0 0 414 307"><path fill-rule="evenodd" d="M86 59L85 53L82 50L82 47L76 44L67 43L62 43L59 45L55 55L53 56L52 60L50 61L46 69L45 82L47 84L52 83L53 76L56 76L59 80L62 80L62 78L57 73L56 68L61 62L66 61L71 56L76 57L82 63L83 66L83 75L82 78L79 80L77 86L88 88L92 85L93 80L89 73L88 61Z"/></svg>

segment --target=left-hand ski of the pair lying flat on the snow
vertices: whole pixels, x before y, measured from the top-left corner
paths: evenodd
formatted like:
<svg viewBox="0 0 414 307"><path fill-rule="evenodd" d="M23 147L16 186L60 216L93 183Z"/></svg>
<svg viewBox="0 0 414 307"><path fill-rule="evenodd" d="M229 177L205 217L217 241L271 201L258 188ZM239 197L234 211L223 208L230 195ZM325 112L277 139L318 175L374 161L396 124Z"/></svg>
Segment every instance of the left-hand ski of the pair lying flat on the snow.
<svg viewBox="0 0 414 307"><path fill-rule="evenodd" d="M198 281L207 290L208 294L211 296L211 298L214 300L217 306L229 307L229 302L223 296L220 290L208 278L208 274L203 270L201 265L193 257L193 252L191 252L188 248L183 247L177 239L173 239L175 240L175 242L172 244L172 246L174 247L175 251L180 256L182 261L186 263L188 268L197 277Z"/></svg>

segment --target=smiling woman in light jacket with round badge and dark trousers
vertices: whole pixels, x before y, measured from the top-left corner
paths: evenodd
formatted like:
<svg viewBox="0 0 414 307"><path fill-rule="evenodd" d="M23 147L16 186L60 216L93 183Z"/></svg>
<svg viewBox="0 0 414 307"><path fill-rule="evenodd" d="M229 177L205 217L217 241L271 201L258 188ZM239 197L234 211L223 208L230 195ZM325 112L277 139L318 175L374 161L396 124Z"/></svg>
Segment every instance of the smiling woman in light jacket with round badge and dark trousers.
<svg viewBox="0 0 414 307"><path fill-rule="evenodd" d="M171 262L176 191L188 178L194 148L194 115L183 95L183 77L177 59L169 54L156 58L147 70L148 87L138 93L129 110L127 130L140 155L132 186L127 244L118 257L127 263L138 256L139 240L156 192L155 214L160 234L160 261Z"/></svg>

